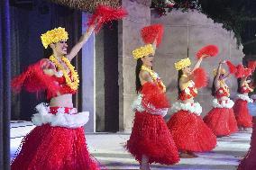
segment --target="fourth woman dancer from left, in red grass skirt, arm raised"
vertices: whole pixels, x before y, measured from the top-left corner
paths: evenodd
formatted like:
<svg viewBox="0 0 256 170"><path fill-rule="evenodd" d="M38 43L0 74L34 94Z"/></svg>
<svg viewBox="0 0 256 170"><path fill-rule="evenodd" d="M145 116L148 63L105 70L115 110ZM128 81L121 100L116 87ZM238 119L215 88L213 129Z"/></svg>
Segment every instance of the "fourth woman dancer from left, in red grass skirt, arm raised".
<svg viewBox="0 0 256 170"><path fill-rule="evenodd" d="M233 101L230 100L229 88L225 84L225 79L229 74L225 75L225 70L220 62L219 67L215 71L215 78L212 86L212 95L215 97L213 101L213 109L207 113L204 121L207 126L213 130L217 137L228 136L237 131L237 124L233 114Z"/></svg>

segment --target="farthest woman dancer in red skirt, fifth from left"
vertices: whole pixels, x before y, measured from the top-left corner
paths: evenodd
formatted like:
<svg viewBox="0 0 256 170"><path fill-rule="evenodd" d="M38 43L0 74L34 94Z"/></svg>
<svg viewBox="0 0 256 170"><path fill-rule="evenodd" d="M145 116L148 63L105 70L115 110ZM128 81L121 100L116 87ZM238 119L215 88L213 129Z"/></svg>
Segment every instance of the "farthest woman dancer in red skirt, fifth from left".
<svg viewBox="0 0 256 170"><path fill-rule="evenodd" d="M252 103L252 99L249 97L249 93L253 91L253 89L248 85L250 83L250 79L248 78L251 75L251 69L245 68L241 65L237 70L237 82L238 82L238 90L237 92L237 100L233 106L233 112L237 121L237 126L239 130L246 130L247 128L252 127L252 117L248 110L248 103Z"/></svg>

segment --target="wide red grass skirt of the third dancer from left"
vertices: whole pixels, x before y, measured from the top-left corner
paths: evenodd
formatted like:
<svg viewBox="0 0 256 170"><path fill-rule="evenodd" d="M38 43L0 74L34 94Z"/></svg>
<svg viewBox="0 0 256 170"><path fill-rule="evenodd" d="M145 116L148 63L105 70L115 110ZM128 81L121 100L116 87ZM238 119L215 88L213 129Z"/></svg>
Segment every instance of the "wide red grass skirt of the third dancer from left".
<svg viewBox="0 0 256 170"><path fill-rule="evenodd" d="M205 152L216 146L216 136L200 116L188 111L174 113L167 123L178 150Z"/></svg>

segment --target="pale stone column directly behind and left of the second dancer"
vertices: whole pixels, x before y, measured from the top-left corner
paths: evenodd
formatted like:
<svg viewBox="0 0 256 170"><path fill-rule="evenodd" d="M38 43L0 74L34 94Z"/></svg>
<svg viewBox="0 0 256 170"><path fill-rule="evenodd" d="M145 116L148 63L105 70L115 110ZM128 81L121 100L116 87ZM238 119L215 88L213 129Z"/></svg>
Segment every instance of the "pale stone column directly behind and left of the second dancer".
<svg viewBox="0 0 256 170"><path fill-rule="evenodd" d="M151 23L150 0L123 0L123 7L129 15L119 22L119 130L130 131L134 114L131 104L135 93L135 66L132 51L142 45L140 31Z"/></svg>

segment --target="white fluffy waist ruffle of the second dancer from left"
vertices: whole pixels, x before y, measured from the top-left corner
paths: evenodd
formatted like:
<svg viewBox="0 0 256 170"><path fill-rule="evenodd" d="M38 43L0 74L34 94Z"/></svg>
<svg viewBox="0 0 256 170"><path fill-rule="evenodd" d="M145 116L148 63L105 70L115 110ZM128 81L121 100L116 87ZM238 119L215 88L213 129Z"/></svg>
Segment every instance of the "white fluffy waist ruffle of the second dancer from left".
<svg viewBox="0 0 256 170"><path fill-rule="evenodd" d="M164 117L168 112L168 108L157 109L151 104L143 107L142 94L139 94L138 97L133 101L132 110L133 112L149 112L151 114L161 115L162 117Z"/></svg>

